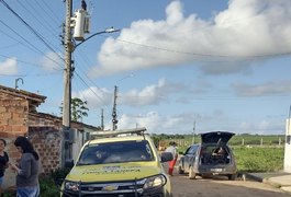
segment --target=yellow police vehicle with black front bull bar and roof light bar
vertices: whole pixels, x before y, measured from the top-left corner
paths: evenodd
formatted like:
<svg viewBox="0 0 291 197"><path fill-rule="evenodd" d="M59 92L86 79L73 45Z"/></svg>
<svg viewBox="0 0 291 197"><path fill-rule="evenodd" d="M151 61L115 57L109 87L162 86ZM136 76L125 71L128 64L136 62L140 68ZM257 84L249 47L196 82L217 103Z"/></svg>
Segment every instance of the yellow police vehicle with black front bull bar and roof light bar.
<svg viewBox="0 0 291 197"><path fill-rule="evenodd" d="M171 197L170 179L145 128L99 131L82 147L61 185L61 196Z"/></svg>

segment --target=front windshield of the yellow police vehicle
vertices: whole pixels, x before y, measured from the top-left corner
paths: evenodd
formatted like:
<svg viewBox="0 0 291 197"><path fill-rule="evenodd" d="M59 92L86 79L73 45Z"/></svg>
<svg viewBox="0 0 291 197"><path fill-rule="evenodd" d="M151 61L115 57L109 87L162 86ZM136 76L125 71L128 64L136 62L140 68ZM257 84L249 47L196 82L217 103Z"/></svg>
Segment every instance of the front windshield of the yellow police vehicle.
<svg viewBox="0 0 291 197"><path fill-rule="evenodd" d="M89 144L77 165L153 161L153 152L146 140L117 141Z"/></svg>

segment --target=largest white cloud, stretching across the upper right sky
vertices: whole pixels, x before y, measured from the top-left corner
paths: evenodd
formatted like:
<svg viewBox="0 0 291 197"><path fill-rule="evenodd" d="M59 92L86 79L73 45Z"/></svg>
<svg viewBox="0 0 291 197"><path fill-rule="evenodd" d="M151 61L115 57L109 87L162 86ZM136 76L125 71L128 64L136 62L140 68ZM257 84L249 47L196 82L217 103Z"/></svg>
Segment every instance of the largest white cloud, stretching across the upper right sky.
<svg viewBox="0 0 291 197"><path fill-rule="evenodd" d="M291 1L286 0L232 0L213 21L203 21L195 14L183 15L181 2L172 1L165 20L135 21L116 39L108 38L90 74L199 61L212 68L216 65L214 69L201 67L205 73L242 72L250 68L249 62L236 63L242 57L291 50L290 7Z"/></svg>

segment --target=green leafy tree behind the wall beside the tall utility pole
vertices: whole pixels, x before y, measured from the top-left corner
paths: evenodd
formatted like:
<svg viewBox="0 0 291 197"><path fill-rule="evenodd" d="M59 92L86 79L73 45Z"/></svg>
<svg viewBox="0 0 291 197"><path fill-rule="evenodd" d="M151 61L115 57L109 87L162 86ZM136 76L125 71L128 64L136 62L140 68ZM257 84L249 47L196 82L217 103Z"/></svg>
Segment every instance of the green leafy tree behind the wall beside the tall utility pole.
<svg viewBox="0 0 291 197"><path fill-rule="evenodd" d="M78 121L79 119L82 121L82 117L88 116L89 108L87 107L87 101L82 101L79 97L71 99L71 120ZM60 114L63 114L63 103L60 108Z"/></svg>

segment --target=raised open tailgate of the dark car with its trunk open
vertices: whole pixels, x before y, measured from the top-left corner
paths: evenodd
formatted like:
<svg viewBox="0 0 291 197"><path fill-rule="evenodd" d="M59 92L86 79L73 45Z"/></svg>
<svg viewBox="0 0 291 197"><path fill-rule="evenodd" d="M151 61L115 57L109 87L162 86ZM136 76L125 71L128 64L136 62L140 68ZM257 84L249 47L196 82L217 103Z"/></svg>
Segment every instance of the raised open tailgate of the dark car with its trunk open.
<svg viewBox="0 0 291 197"><path fill-rule="evenodd" d="M201 134L202 143L227 143L234 136L234 132L228 131L210 131Z"/></svg>

